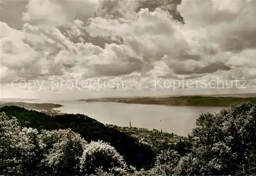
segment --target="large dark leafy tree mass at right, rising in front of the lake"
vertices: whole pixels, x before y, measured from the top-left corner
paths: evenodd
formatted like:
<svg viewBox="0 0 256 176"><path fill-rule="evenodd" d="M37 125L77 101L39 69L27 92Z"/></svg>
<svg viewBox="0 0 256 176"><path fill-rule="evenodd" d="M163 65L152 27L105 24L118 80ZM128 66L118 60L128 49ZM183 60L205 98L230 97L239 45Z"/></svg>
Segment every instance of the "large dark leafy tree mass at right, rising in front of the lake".
<svg viewBox="0 0 256 176"><path fill-rule="evenodd" d="M176 174L255 174L256 106L233 104L216 114L202 114L189 139L191 153Z"/></svg>

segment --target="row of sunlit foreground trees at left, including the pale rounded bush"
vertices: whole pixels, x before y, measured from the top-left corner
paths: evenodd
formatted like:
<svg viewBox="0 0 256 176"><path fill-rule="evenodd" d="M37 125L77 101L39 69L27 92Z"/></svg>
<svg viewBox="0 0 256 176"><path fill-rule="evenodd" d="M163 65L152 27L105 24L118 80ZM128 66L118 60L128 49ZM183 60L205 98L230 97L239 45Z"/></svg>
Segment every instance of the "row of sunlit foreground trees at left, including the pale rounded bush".
<svg viewBox="0 0 256 176"><path fill-rule="evenodd" d="M98 168L116 172L126 163L116 149L102 141L87 143L67 130L23 128L15 117L0 114L0 173L13 175L81 175Z"/></svg>

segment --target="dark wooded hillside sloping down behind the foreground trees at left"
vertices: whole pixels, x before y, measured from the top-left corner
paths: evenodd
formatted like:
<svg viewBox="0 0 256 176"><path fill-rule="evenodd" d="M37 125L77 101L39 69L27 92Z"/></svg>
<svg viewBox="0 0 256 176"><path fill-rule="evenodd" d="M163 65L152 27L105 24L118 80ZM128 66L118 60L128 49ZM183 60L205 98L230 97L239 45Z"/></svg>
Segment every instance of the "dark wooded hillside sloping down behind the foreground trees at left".
<svg viewBox="0 0 256 176"><path fill-rule="evenodd" d="M0 108L8 116L16 117L23 127L39 130L57 130L70 128L86 141L109 142L117 152L124 156L127 164L136 168L147 168L152 164L155 153L150 146L139 142L137 139L105 126L103 123L82 114L60 114L50 116L42 112L27 110L16 106Z"/></svg>

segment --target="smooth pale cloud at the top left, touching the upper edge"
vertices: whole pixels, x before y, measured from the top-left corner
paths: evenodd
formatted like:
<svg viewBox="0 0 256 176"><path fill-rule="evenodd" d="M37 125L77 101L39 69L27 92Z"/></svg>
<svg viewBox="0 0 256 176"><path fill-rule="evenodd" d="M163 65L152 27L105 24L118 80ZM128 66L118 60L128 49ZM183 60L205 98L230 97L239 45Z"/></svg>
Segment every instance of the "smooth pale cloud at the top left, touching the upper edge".
<svg viewBox="0 0 256 176"><path fill-rule="evenodd" d="M73 22L75 18L86 18L95 13L99 1L37 1L31 0L23 20L31 24L61 26Z"/></svg>

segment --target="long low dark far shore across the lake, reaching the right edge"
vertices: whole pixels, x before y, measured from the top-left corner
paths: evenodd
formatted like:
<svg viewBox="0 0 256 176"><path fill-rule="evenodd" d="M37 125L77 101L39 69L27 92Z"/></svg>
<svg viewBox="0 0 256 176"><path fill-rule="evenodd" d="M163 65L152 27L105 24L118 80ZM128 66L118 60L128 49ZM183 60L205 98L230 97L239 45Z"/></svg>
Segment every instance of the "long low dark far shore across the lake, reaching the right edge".
<svg viewBox="0 0 256 176"><path fill-rule="evenodd" d="M233 103L256 104L255 97L231 96L171 96L171 97L106 97L78 99L80 102L115 102L126 104L168 105L168 106L214 106L228 107Z"/></svg>

